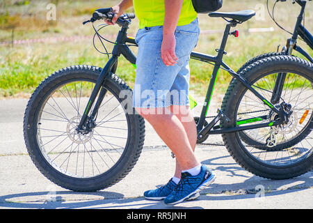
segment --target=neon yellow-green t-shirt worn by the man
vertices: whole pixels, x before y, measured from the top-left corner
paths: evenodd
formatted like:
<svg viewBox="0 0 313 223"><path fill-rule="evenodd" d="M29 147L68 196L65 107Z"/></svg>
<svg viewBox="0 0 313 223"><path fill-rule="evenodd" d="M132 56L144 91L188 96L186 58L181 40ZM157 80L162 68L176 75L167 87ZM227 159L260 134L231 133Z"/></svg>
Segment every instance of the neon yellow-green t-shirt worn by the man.
<svg viewBox="0 0 313 223"><path fill-rule="evenodd" d="M165 5L164 0L133 0L139 28L150 26L163 26ZM184 26L195 20L197 13L191 0L183 0L182 10L177 26Z"/></svg>

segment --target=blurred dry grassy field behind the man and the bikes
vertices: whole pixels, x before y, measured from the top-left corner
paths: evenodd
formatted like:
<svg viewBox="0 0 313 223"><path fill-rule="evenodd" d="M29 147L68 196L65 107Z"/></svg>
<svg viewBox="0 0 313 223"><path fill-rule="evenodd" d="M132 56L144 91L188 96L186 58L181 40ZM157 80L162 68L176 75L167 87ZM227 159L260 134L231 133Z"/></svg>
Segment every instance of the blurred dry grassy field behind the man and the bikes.
<svg viewBox="0 0 313 223"><path fill-rule="evenodd" d="M95 31L91 24L83 25L97 8L108 8L119 1L105 0L1 0L0 1L0 98L29 98L35 87L61 68L86 64L104 67L108 57L99 54L93 47ZM272 13L275 0L268 0ZM243 63L254 56L266 52L275 52L278 45L286 44L290 34L280 29L268 15L266 0L224 0L220 11L255 10L257 15L248 22L236 27L239 38L230 37L227 43L227 55L224 57L233 70L238 70ZM131 8L129 12L133 12ZM275 20L293 31L300 6L291 0L279 2L275 6ZM199 15L202 31L195 51L216 54L215 49L225 28L225 20ZM95 25L103 22L96 22ZM307 2L305 27L313 32L313 3ZM106 26L101 34L104 38L115 41L118 26ZM138 20L133 20L128 31L129 36L136 36ZM96 40L97 47L100 47ZM298 40L298 44L309 54L312 49ZM108 50L112 49L106 43ZM281 49L280 47L280 49ZM136 53L136 47L131 47ZM295 53L296 54L296 53ZM296 54L299 56L298 54ZM191 60L191 90L205 93L211 77L212 66ZM133 86L135 68L120 57L117 75ZM230 75L220 72L218 93L227 89Z"/></svg>

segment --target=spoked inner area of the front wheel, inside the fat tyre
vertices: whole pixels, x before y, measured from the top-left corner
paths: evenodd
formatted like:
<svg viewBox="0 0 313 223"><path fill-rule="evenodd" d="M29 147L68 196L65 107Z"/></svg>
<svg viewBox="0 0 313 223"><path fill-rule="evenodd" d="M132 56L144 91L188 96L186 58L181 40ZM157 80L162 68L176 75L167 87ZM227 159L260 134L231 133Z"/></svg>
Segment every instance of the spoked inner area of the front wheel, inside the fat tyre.
<svg viewBox="0 0 313 223"><path fill-rule="evenodd" d="M37 130L41 151L53 167L69 176L103 174L125 150L129 130L126 114L124 109L120 112L120 102L110 91L99 105L96 127L86 134L77 133L80 107L86 105L94 87L95 83L81 80L63 84L40 108ZM94 107L95 103L90 109Z"/></svg>

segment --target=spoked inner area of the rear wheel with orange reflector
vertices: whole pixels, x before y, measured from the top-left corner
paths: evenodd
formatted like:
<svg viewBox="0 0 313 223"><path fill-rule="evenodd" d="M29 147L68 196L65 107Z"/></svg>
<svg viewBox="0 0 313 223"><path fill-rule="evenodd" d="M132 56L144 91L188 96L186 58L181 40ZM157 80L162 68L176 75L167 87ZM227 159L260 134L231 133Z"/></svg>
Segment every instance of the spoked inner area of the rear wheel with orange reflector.
<svg viewBox="0 0 313 223"><path fill-rule="evenodd" d="M254 86L257 86L256 89L259 93L265 98L271 98L272 95L269 93L273 92L278 73L264 76L253 83ZM307 123L312 123L312 120L310 120L310 118L312 118L312 92L312 83L308 79L287 72L286 78L284 79L284 86L282 86L280 103L287 102L291 104L293 113L289 118L289 123L283 126L273 126L273 128L258 128L243 131L241 133L243 134L241 139L245 140L247 152L253 155L255 159L266 162L267 164L285 166L298 162L303 159L305 154L312 151L313 143L310 138L304 137L304 139L296 141L298 136L303 134L303 130L305 130L308 125ZM280 103L275 106L279 107ZM266 105L264 105L259 98L255 97L250 91L247 91L241 98L240 105L237 109L236 120L240 121L246 118L267 115L268 120L263 120L259 123L270 120L273 121L275 114L271 112L270 109L264 112L253 113L254 110L264 107L266 107ZM310 111L309 114L306 114L310 117L309 119L306 118L307 123L303 125L297 124L306 110ZM252 114L250 114L250 112L252 112ZM297 116L297 114L300 116ZM269 137L271 137L273 132L275 132L275 146L273 146L273 148L267 147L267 141L270 139ZM294 141L290 142L291 140ZM298 148L292 147L294 144L300 146L298 146Z"/></svg>

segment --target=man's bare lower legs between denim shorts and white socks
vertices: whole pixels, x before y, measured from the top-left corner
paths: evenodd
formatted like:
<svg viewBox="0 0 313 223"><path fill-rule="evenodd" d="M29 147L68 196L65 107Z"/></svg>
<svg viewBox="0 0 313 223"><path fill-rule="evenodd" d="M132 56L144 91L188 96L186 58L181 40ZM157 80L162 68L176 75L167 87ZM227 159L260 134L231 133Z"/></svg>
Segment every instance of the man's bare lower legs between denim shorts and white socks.
<svg viewBox="0 0 313 223"><path fill-rule="evenodd" d="M192 141L194 141L194 139L191 136L191 132L188 130L187 133L185 130L185 126L188 128L191 122L186 122L188 124L184 126L182 121L180 121L175 114L170 112L170 107L150 109L136 108L136 111L152 125L157 134L159 134L159 137L161 137L164 143L175 154L179 162L179 178L181 169L192 169L200 165L200 162L198 162L193 153L195 145L191 146L188 134ZM189 116L190 115L191 114L189 114ZM180 117L183 118L183 116Z"/></svg>

